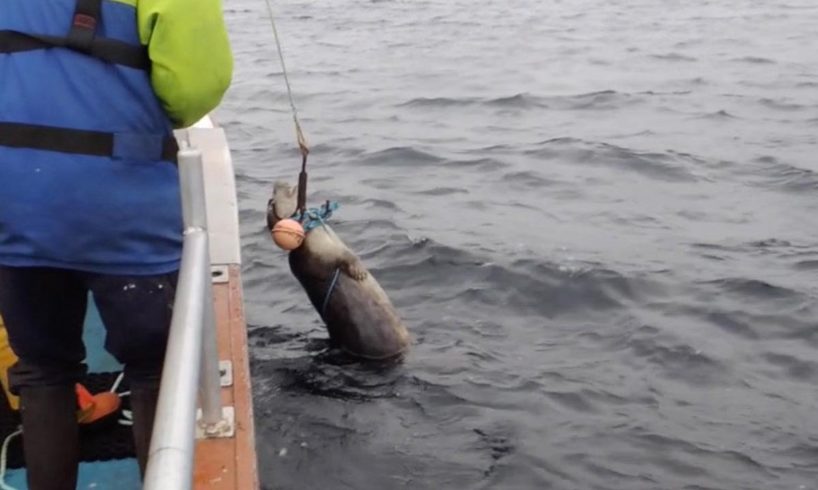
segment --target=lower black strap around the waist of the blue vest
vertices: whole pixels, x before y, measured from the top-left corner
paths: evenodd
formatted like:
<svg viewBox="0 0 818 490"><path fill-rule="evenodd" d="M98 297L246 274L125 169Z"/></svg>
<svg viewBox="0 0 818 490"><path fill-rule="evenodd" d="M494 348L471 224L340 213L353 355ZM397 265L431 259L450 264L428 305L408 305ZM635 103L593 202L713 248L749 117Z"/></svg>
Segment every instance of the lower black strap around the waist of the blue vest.
<svg viewBox="0 0 818 490"><path fill-rule="evenodd" d="M102 131L58 128L0 122L0 146L31 148L102 157L117 156L117 135ZM160 154L154 158L176 162L179 145L176 138L165 138Z"/></svg>

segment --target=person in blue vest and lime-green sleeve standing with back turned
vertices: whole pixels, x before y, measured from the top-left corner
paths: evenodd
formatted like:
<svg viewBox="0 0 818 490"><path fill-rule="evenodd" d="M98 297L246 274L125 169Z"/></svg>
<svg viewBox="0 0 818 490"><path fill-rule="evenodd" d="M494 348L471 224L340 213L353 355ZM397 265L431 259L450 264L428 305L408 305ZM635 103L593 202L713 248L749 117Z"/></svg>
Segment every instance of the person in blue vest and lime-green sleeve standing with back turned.
<svg viewBox="0 0 818 490"><path fill-rule="evenodd" d="M89 292L144 473L181 260L173 129L232 61L220 0L0 1L0 314L31 489L76 486Z"/></svg>

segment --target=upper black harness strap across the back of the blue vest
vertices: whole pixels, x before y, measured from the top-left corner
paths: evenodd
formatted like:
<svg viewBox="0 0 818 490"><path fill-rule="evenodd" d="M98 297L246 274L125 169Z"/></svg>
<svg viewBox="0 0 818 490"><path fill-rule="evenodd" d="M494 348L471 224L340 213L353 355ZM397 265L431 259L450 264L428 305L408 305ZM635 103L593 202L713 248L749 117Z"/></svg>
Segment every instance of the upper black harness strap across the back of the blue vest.
<svg viewBox="0 0 818 490"><path fill-rule="evenodd" d="M149 71L151 63L148 50L144 46L97 37L101 16L102 0L77 0L67 36L44 36L0 30L0 53L67 48L108 63Z"/></svg>

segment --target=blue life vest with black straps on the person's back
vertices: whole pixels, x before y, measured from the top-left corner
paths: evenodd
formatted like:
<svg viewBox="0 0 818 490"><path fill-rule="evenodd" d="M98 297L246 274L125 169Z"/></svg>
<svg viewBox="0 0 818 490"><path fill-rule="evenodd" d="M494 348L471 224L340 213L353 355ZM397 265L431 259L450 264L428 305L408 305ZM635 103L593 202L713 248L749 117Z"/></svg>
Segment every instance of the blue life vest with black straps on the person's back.
<svg viewBox="0 0 818 490"><path fill-rule="evenodd" d="M178 267L178 146L136 8L0 1L0 264Z"/></svg>

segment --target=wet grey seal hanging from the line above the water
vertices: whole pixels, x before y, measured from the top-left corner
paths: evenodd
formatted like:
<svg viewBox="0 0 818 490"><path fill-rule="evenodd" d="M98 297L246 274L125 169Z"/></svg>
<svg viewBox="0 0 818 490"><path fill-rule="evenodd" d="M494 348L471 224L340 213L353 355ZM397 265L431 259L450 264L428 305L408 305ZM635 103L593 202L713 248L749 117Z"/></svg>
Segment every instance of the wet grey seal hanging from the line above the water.
<svg viewBox="0 0 818 490"><path fill-rule="evenodd" d="M293 216L297 203L297 187L281 181L273 184L273 197L267 203L271 233L277 222ZM301 246L290 251L289 263L326 324L333 346L368 360L400 358L409 349L409 332L389 297L328 224L307 233Z"/></svg>

